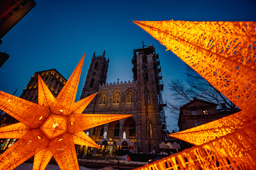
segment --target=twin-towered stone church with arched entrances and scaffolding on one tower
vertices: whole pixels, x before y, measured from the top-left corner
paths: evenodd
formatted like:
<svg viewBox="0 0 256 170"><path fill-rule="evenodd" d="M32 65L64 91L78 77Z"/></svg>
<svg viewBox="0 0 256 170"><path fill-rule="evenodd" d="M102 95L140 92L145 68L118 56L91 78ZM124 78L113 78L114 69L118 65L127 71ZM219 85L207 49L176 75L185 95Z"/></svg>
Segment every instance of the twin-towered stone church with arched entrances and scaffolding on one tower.
<svg viewBox="0 0 256 170"><path fill-rule="evenodd" d="M132 149L136 152L159 152L165 127L162 100L162 76L158 54L153 46L135 49L132 58L132 82L106 83L109 59L93 55L80 99L98 92L83 113L131 114L131 117L86 130L101 149ZM87 148L80 146L84 152ZM94 149L96 153L96 148Z"/></svg>

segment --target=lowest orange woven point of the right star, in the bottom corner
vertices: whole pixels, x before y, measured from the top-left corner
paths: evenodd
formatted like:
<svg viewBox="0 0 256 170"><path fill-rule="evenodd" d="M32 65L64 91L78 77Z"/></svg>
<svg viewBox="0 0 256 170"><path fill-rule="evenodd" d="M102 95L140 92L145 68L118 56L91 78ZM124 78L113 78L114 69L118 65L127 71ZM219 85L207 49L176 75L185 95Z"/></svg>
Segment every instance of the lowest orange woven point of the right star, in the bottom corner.
<svg viewBox="0 0 256 170"><path fill-rule="evenodd" d="M158 169L255 169L256 124L232 132L200 146L138 167Z"/></svg>

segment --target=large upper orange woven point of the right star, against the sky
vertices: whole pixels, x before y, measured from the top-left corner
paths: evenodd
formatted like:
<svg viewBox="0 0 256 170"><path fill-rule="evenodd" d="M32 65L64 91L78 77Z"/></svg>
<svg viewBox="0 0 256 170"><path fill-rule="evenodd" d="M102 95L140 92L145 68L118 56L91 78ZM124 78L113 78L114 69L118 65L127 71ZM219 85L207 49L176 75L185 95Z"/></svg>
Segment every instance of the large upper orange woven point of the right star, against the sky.
<svg viewBox="0 0 256 170"><path fill-rule="evenodd" d="M243 111L256 104L256 22L134 21Z"/></svg>

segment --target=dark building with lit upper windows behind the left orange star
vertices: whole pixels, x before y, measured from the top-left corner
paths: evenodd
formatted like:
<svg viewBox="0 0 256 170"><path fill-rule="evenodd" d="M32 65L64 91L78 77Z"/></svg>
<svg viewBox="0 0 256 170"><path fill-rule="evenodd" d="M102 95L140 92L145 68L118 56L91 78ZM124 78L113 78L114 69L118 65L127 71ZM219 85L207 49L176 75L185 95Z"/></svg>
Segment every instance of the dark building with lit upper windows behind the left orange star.
<svg viewBox="0 0 256 170"><path fill-rule="evenodd" d="M50 89L54 97L57 97L58 93L66 83L66 79L55 69L44 70L34 73L31 77L28 85L23 90L20 98L38 103L38 75L41 76L47 87ZM1 115L2 116L2 115ZM4 114L1 117L3 120L0 127L17 123L18 120L8 114ZM0 153L3 153L7 148L11 147L18 139L0 139Z"/></svg>

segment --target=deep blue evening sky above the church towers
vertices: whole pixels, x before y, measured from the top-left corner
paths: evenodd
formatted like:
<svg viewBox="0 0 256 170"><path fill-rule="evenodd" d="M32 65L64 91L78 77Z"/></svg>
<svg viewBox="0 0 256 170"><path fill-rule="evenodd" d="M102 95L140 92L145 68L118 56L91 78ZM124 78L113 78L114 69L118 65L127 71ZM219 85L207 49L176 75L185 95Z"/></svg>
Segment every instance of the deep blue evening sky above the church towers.
<svg viewBox="0 0 256 170"><path fill-rule="evenodd" d="M168 100L167 81L184 78L183 62L149 34L138 21L256 21L255 0L243 1L59 1L35 0L37 5L2 40L0 51L10 55L0 68L0 90L16 96L37 71L55 68L69 78L86 53L76 101L93 53L110 59L107 82L132 81L134 48L154 45L159 54ZM168 112L165 114L168 116ZM177 121L166 119L169 130Z"/></svg>

